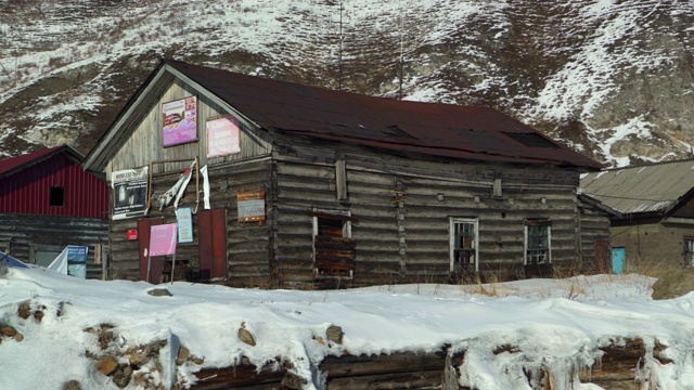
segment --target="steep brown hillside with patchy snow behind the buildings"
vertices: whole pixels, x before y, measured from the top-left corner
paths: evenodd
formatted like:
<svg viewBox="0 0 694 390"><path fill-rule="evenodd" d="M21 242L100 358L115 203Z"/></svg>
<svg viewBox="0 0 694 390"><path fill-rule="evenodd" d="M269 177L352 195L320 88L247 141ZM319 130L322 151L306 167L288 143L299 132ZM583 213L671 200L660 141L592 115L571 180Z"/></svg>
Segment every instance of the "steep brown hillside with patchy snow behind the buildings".
<svg viewBox="0 0 694 390"><path fill-rule="evenodd" d="M483 104L609 165L694 144L694 2L0 1L0 156L88 152L160 57Z"/></svg>

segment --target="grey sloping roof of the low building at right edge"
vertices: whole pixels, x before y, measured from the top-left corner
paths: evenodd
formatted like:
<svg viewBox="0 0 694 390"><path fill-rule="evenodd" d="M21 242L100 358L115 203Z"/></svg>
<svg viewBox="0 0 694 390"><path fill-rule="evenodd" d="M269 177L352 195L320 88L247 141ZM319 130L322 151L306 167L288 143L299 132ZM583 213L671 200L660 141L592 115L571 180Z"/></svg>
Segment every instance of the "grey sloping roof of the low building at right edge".
<svg viewBox="0 0 694 390"><path fill-rule="evenodd" d="M694 159L586 174L580 191L621 214L664 214L694 188Z"/></svg>

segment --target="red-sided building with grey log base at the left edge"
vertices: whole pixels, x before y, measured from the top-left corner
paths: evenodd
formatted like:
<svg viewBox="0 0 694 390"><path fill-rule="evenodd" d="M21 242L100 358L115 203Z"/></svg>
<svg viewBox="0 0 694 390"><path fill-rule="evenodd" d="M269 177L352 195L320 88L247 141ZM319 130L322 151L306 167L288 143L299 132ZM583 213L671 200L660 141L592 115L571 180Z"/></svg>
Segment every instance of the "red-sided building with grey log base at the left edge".
<svg viewBox="0 0 694 390"><path fill-rule="evenodd" d="M107 244L108 186L81 169L70 146L0 160L0 250L47 265L67 245L90 247L101 262ZM101 266L90 266L92 277Z"/></svg>

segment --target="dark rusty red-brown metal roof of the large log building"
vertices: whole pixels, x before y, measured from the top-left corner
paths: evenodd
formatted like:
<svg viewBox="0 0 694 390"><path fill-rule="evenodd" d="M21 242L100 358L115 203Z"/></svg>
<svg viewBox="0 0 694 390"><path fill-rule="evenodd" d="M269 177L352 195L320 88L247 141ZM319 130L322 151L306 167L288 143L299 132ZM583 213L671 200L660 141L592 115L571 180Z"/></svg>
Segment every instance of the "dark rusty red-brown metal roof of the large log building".
<svg viewBox="0 0 694 390"><path fill-rule="evenodd" d="M441 157L601 168L488 107L396 101L175 61L166 65L266 130Z"/></svg>

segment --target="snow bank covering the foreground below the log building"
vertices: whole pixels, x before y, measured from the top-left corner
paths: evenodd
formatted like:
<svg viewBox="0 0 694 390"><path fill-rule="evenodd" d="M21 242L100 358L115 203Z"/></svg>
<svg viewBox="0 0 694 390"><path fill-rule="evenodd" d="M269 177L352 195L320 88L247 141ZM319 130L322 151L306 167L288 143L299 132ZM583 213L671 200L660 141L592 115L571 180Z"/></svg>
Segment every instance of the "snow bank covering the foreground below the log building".
<svg viewBox="0 0 694 390"><path fill-rule="evenodd" d="M0 337L0 389L62 389L77 379L82 389L117 389L94 368L99 341L88 328L117 330L126 350L164 340L160 370L150 370L165 387L193 382L193 364L176 365L178 346L223 367L247 356L262 365L275 356L311 378L324 356L397 351L430 352L451 344L465 351L459 382L471 388L529 389L523 360L544 361L553 370L596 363L593 353L611 338L642 338L668 347L674 363L651 361L654 389L694 389L694 292L654 301L652 277L595 275L490 285L402 285L351 290L260 290L174 283L85 281L40 268L4 261L0 265L0 328L11 326L21 341ZM171 296L147 294L166 288ZM43 317L22 318L23 304ZM331 325L340 326L342 344L317 342ZM239 339L245 327L256 344ZM517 346L523 359L492 354ZM110 347L114 348L114 347ZM91 358L90 358L91 355ZM168 356L168 359L166 358ZM663 355L661 355L663 356ZM515 374L514 374L515 373ZM556 389L594 390L593 384L554 384ZM571 386L571 387L569 387ZM138 387L131 381L128 389ZM309 384L321 389L321 384Z"/></svg>

